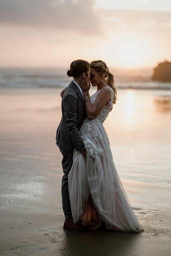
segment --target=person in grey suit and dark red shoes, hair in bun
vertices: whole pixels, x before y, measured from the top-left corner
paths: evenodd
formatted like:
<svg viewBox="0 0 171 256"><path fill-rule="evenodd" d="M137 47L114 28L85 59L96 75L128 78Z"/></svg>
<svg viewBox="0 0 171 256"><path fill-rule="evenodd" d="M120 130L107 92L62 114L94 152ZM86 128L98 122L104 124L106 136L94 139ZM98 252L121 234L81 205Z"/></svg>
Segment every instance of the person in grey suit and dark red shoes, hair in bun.
<svg viewBox="0 0 171 256"><path fill-rule="evenodd" d="M75 60L71 63L67 75L73 77L73 80L62 97L62 119L56 132L56 144L63 155L62 206L65 215L64 228L84 231L88 229L73 222L68 191L68 174L73 164L74 148L86 158L84 143L79 134L83 120L86 117L86 110L83 92L78 82L81 77L85 77L87 81L89 80L90 64L85 60Z"/></svg>

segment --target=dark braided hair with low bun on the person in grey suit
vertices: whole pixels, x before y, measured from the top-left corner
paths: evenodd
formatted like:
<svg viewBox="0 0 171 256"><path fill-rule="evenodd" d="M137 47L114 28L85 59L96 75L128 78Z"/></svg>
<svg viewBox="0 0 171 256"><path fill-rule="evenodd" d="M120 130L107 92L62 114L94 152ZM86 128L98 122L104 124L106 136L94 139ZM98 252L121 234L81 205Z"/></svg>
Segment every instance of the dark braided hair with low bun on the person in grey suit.
<svg viewBox="0 0 171 256"><path fill-rule="evenodd" d="M74 60L68 69L68 77L79 77L84 72L87 74L90 67L90 63L86 60Z"/></svg>

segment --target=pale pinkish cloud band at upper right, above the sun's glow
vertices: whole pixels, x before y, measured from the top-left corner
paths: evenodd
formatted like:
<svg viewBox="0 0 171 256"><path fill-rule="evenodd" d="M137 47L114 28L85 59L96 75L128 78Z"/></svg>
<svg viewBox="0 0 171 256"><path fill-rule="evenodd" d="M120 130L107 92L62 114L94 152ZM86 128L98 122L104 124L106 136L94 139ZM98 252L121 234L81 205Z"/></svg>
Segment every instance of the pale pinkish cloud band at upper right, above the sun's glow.
<svg viewBox="0 0 171 256"><path fill-rule="evenodd" d="M106 29L107 40L112 35L125 37L125 42L136 36L146 40L151 48L154 44L169 50L171 40L171 12L137 11L137 10L104 10L99 15L105 17L103 29Z"/></svg>

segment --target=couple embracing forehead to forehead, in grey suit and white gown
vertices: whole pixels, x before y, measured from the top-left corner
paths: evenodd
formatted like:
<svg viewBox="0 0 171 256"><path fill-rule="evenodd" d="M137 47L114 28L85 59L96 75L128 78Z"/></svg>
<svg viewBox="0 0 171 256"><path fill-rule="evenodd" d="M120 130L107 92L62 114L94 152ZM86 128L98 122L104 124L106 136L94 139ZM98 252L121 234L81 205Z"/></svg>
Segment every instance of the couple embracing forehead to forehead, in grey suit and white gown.
<svg viewBox="0 0 171 256"><path fill-rule="evenodd" d="M56 144L62 155L64 228L142 231L117 174L103 126L116 103L114 76L102 60L75 60L62 92ZM90 82L97 91L89 95Z"/></svg>

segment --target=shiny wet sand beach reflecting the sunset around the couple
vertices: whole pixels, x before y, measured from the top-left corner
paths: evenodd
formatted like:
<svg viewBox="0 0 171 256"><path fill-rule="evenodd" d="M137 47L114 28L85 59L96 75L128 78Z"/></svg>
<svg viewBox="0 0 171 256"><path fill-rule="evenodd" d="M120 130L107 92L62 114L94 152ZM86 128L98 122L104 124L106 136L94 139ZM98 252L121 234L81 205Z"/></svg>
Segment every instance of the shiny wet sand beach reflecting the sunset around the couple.
<svg viewBox="0 0 171 256"><path fill-rule="evenodd" d="M139 233L63 229L60 91L1 89L0 254L170 255L171 91L120 89L104 123Z"/></svg>

